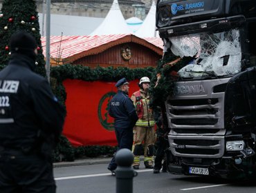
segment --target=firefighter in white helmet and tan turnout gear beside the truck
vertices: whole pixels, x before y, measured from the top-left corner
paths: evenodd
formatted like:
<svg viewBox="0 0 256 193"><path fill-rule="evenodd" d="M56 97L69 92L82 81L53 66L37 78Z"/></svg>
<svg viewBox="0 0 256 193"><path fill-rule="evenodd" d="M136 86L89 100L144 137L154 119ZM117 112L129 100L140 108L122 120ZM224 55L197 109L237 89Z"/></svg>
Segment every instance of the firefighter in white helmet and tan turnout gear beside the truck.
<svg viewBox="0 0 256 193"><path fill-rule="evenodd" d="M138 121L134 127L134 169L140 165L140 154L144 154L144 165L146 168L153 168L154 155L154 118L152 109L149 108L149 90L150 80L148 77L140 79L140 90L134 92L131 100L134 101ZM144 151L143 151L144 141Z"/></svg>

